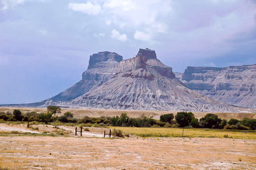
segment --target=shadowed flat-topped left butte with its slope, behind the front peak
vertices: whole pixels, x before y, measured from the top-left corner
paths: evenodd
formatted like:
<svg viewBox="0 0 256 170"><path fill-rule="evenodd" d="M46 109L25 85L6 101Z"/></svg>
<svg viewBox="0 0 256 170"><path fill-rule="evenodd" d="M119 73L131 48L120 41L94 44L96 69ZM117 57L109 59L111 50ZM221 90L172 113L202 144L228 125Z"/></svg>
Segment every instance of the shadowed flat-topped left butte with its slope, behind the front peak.
<svg viewBox="0 0 256 170"><path fill-rule="evenodd" d="M108 51L91 55L88 70L83 72L82 80L48 100L70 101L102 85L119 72L122 60L121 55Z"/></svg>

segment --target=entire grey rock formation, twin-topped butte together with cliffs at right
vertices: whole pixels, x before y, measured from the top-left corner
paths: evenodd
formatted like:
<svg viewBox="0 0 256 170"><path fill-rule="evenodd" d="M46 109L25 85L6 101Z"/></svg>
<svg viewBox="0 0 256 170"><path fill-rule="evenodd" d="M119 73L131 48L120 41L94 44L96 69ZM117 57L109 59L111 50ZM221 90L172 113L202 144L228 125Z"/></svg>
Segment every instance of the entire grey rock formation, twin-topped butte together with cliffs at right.
<svg viewBox="0 0 256 170"><path fill-rule="evenodd" d="M114 52L99 52L90 56L82 80L58 95L31 104L0 106L256 112L237 107L256 108L256 65L188 67L184 73L175 74L148 48L139 49L127 60Z"/></svg>

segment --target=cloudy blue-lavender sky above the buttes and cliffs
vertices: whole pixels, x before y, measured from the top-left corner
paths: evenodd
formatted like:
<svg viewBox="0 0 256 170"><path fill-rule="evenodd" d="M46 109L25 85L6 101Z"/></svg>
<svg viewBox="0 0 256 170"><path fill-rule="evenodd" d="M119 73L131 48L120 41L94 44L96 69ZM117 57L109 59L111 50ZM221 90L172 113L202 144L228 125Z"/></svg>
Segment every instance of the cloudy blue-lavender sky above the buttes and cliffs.
<svg viewBox="0 0 256 170"><path fill-rule="evenodd" d="M100 51L184 72L256 64L255 47L256 0L0 0L0 104L57 95Z"/></svg>

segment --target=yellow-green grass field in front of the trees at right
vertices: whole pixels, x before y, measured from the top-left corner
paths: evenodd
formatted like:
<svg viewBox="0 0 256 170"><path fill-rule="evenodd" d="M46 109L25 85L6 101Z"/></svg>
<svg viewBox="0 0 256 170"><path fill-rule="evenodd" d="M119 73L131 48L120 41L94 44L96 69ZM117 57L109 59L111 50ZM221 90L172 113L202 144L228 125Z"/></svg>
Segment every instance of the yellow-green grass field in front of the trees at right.
<svg viewBox="0 0 256 170"><path fill-rule="evenodd" d="M139 137L182 137L182 128L135 128L115 127L125 133ZM183 137L216 137L216 138L256 139L256 131L223 130L223 129L184 129Z"/></svg>

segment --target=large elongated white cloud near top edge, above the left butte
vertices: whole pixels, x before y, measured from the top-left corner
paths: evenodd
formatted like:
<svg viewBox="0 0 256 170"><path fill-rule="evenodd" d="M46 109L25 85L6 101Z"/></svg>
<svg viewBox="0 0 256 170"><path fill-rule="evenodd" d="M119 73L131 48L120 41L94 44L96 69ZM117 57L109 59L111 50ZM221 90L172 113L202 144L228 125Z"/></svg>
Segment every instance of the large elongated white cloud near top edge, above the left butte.
<svg viewBox="0 0 256 170"><path fill-rule="evenodd" d="M98 15L101 12L101 6L99 4L92 4L90 1L84 3L70 3L68 8L74 11L84 12L89 15Z"/></svg>

